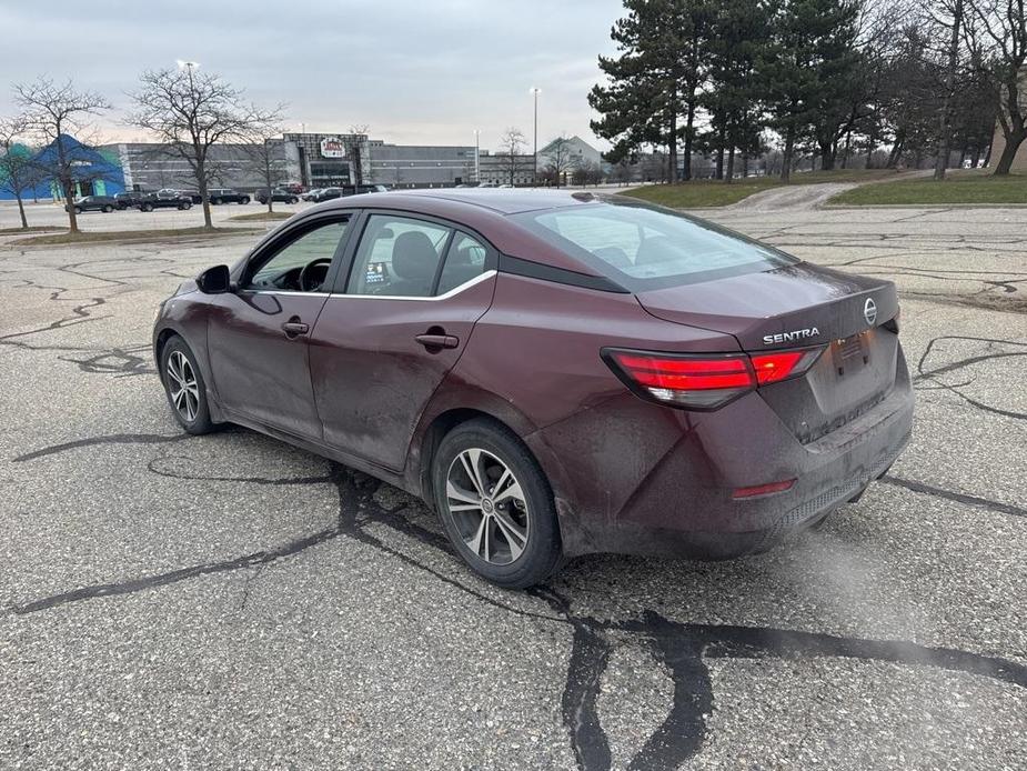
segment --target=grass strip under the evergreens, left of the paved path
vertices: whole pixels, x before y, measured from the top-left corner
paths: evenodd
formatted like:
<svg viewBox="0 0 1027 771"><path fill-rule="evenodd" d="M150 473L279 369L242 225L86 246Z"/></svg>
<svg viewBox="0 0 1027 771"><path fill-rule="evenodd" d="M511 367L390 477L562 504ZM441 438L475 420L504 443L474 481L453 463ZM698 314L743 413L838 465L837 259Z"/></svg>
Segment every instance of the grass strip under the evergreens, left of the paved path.
<svg viewBox="0 0 1027 771"><path fill-rule="evenodd" d="M899 174L893 169L836 169L834 171L795 171L789 184L826 184L828 182L876 182ZM650 184L623 192L623 196L641 198L672 209L699 209L726 207L749 196L778 188L779 177L747 177L733 180L695 180L677 184ZM875 186L876 187L876 186Z"/></svg>

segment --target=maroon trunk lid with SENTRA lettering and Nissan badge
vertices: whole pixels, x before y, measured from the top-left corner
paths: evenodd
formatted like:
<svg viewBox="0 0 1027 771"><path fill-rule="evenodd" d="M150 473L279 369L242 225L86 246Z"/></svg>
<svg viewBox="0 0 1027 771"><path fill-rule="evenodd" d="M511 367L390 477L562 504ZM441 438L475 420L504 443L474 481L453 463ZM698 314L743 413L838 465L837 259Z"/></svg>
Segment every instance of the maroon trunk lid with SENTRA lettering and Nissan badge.
<svg viewBox="0 0 1027 771"><path fill-rule="evenodd" d="M759 388L804 443L882 401L896 378L895 284L808 263L636 294L651 314L735 337L751 354L813 346L802 376Z"/></svg>

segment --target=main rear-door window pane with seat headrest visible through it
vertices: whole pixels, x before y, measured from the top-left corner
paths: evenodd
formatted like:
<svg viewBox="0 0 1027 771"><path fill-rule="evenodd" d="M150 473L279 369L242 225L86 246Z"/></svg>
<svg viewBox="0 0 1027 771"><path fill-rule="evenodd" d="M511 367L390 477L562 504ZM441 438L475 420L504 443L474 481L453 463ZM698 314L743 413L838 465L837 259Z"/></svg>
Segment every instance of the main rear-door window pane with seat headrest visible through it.
<svg viewBox="0 0 1027 771"><path fill-rule="evenodd" d="M356 249L346 293L431 297L451 232L434 222L372 214Z"/></svg>

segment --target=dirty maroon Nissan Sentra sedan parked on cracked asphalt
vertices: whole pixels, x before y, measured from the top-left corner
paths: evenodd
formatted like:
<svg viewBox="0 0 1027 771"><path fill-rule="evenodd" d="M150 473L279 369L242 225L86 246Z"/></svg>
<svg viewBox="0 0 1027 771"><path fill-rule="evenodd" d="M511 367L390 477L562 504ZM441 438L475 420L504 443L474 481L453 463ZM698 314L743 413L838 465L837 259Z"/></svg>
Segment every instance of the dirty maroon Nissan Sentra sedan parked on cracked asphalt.
<svg viewBox="0 0 1027 771"><path fill-rule="evenodd" d="M161 306L191 433L250 427L424 498L483 577L723 559L856 500L909 438L888 281L618 196L313 207Z"/></svg>

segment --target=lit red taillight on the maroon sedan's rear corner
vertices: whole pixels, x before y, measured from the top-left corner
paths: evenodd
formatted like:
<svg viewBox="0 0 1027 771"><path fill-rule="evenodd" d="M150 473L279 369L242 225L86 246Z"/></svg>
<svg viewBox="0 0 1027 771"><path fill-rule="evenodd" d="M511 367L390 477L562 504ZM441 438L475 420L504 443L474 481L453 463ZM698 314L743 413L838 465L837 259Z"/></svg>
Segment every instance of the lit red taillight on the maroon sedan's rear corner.
<svg viewBox="0 0 1027 771"><path fill-rule="evenodd" d="M748 356L674 354L605 349L603 358L635 393L697 410L723 407L746 391L805 372L822 348Z"/></svg>

